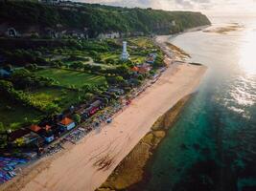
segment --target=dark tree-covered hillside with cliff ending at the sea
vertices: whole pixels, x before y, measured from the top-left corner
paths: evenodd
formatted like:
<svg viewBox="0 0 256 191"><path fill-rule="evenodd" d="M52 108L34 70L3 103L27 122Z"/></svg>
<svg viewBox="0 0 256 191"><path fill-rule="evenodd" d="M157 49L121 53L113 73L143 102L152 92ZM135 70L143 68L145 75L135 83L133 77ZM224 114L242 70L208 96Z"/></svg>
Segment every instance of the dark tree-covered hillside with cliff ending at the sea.
<svg viewBox="0 0 256 191"><path fill-rule="evenodd" d="M208 25L200 12L128 9L98 4L62 3L55 6L33 2L0 2L0 31L13 27L17 32L43 33L77 30L89 37L100 33L168 34Z"/></svg>

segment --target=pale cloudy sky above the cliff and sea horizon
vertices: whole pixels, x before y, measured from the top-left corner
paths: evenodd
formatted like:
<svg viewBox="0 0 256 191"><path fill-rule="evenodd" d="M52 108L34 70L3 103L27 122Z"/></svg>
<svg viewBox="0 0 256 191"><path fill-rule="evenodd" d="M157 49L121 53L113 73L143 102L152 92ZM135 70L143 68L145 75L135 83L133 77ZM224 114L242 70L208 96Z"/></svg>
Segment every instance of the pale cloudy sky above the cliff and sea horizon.
<svg viewBox="0 0 256 191"><path fill-rule="evenodd" d="M256 0L78 0L121 7L153 8L167 11L202 11L208 14L255 14Z"/></svg>

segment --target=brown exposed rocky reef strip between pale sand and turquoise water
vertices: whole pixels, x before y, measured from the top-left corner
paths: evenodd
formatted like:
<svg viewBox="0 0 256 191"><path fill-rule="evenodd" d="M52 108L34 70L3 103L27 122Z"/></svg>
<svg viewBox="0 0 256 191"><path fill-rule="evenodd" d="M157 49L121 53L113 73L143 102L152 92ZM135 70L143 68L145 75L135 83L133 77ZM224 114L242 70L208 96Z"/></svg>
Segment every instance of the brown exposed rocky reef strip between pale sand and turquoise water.
<svg viewBox="0 0 256 191"><path fill-rule="evenodd" d="M151 131L138 142L96 191L140 190L140 185L146 183L151 176L148 168L153 160L154 152L180 117L181 111L191 96L193 95L181 98L166 114L159 117L152 125Z"/></svg>

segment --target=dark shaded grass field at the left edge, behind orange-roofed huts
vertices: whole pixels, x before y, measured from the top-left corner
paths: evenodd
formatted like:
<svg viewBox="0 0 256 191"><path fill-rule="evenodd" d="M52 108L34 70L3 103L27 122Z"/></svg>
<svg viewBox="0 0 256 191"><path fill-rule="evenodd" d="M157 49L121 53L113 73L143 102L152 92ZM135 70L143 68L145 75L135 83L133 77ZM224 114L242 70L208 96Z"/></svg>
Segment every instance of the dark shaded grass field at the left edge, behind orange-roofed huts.
<svg viewBox="0 0 256 191"><path fill-rule="evenodd" d="M25 107L21 104L12 103L5 97L0 99L0 122L6 128L18 129L22 123L39 119L42 113L34 108Z"/></svg>

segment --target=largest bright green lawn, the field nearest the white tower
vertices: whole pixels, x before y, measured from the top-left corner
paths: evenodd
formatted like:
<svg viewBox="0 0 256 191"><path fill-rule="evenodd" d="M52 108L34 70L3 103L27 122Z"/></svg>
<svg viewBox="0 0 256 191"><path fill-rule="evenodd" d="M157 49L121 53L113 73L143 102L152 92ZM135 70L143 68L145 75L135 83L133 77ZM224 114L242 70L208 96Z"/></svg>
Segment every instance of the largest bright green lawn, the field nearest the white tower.
<svg viewBox="0 0 256 191"><path fill-rule="evenodd" d="M37 71L35 74L54 78L57 84L63 87L81 88L84 84L101 85L105 83L104 76L63 69L45 69Z"/></svg>

